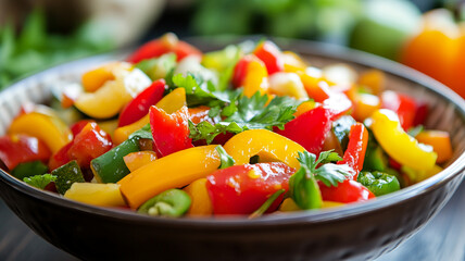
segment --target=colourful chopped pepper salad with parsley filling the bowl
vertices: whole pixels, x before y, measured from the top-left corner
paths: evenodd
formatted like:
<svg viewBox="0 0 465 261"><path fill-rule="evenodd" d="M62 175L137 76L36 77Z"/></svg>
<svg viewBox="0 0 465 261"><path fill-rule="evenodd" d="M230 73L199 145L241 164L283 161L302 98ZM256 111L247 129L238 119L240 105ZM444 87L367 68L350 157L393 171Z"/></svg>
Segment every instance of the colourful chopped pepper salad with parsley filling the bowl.
<svg viewBox="0 0 465 261"><path fill-rule="evenodd" d="M449 134L377 70L315 67L268 40L202 53L173 34L24 104L11 175L147 215L249 215L370 200L441 171Z"/></svg>

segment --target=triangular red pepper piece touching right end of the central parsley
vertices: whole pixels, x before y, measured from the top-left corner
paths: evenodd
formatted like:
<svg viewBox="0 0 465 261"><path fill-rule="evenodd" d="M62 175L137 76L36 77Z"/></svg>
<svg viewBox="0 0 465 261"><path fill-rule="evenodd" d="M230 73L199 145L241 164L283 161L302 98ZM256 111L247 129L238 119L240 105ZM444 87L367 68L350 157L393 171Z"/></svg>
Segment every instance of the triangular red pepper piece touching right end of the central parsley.
<svg viewBox="0 0 465 261"><path fill-rule="evenodd" d="M300 144L309 152L319 154L331 129L331 116L329 109L317 107L286 123L285 129L275 128L275 132Z"/></svg>

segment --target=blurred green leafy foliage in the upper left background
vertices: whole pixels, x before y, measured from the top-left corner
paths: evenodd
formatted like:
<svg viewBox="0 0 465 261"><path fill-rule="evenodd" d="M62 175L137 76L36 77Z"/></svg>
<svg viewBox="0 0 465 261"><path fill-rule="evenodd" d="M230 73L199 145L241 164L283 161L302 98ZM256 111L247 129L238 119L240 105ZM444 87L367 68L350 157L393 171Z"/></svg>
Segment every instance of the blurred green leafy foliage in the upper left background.
<svg viewBox="0 0 465 261"><path fill-rule="evenodd" d="M11 23L0 28L0 89L28 74L112 47L105 29L92 23L68 36L48 34L42 11L35 10L17 36Z"/></svg>

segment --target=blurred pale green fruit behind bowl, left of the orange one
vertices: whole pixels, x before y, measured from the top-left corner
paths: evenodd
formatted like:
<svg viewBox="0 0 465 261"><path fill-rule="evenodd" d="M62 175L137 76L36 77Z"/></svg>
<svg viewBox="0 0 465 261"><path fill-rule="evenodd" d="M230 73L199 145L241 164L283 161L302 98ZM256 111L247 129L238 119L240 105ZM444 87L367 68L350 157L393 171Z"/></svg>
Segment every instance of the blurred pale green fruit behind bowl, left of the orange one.
<svg viewBox="0 0 465 261"><path fill-rule="evenodd" d="M349 46L397 60L405 40L418 29L420 11L410 1L369 0L354 26Z"/></svg>

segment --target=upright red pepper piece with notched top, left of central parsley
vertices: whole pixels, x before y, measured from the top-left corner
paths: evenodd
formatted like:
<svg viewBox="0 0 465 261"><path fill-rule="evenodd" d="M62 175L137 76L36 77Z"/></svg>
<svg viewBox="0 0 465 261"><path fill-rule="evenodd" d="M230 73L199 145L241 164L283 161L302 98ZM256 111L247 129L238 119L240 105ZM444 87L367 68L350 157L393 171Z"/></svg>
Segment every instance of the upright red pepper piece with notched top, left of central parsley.
<svg viewBox="0 0 465 261"><path fill-rule="evenodd" d="M189 111L186 105L172 114L152 105L149 113L153 142L162 157L193 147L189 138Z"/></svg>

